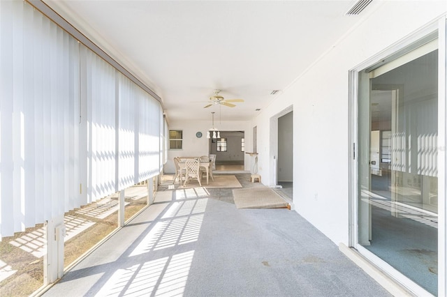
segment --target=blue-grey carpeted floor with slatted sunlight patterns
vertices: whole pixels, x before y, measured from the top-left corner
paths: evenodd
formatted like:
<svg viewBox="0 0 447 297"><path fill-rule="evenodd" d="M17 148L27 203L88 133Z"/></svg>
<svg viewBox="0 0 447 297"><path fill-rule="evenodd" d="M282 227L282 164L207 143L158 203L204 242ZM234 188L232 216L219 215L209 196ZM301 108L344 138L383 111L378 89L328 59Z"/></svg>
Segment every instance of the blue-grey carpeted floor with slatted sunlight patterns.
<svg viewBox="0 0 447 297"><path fill-rule="evenodd" d="M169 185L44 296L390 296L295 211Z"/></svg>

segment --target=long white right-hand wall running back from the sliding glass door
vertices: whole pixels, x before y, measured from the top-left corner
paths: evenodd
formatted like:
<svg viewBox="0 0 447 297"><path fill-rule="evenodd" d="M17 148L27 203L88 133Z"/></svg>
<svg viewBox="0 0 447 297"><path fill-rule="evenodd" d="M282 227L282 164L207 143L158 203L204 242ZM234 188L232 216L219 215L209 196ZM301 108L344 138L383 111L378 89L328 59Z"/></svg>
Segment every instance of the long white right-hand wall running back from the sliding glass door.
<svg viewBox="0 0 447 297"><path fill-rule="evenodd" d="M435 20L446 4L386 1L372 8L251 124L258 126L259 173L270 184L270 118L293 105L295 209L337 244L349 244L349 70Z"/></svg>

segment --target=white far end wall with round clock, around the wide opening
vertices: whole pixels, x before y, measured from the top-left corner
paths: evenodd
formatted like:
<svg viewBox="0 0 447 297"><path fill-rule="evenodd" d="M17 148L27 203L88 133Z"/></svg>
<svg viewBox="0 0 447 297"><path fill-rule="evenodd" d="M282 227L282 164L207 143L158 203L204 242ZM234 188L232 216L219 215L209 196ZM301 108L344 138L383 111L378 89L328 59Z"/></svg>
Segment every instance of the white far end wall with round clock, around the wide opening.
<svg viewBox="0 0 447 297"><path fill-rule="evenodd" d="M168 150L168 162L164 167L165 173L175 172L173 164L175 157L195 157L209 154L207 131L212 128L210 121L172 121L168 124L169 130L183 130L183 149ZM221 131L244 131L245 146L251 147L253 131L249 121L221 121L219 125L214 126ZM203 136L197 138L196 132L202 132ZM244 154L244 169L249 170L250 166L251 158L248 154Z"/></svg>

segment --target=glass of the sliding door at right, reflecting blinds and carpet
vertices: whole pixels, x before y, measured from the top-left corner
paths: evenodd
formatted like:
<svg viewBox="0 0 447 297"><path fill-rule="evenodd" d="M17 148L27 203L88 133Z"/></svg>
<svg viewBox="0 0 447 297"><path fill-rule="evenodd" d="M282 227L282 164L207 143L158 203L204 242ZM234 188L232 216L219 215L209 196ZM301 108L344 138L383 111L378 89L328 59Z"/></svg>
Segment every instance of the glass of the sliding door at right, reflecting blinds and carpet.
<svg viewBox="0 0 447 297"><path fill-rule="evenodd" d="M434 48L358 77L358 244L434 295L437 69Z"/></svg>

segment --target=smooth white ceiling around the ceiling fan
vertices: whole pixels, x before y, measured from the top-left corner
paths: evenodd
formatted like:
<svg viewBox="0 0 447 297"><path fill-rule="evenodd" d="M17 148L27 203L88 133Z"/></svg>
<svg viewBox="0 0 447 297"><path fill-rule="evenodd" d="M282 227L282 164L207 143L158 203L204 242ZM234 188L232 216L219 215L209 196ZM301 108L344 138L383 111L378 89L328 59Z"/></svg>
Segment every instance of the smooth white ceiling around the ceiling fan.
<svg viewBox="0 0 447 297"><path fill-rule="evenodd" d="M163 100L170 120L211 119L214 89L248 121L360 21L356 1L45 0ZM371 6L371 5L370 5Z"/></svg>

